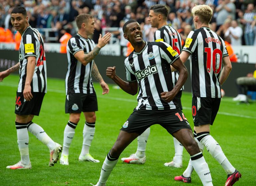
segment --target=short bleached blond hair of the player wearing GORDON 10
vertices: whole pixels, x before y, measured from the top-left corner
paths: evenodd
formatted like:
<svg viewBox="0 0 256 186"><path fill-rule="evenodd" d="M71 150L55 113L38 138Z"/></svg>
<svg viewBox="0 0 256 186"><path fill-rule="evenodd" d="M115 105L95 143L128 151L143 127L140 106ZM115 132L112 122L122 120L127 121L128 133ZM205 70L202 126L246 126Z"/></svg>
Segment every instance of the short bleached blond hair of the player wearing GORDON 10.
<svg viewBox="0 0 256 186"><path fill-rule="evenodd" d="M196 5L191 10L193 15L199 17L202 23L209 24L212 17L212 9L208 5Z"/></svg>

